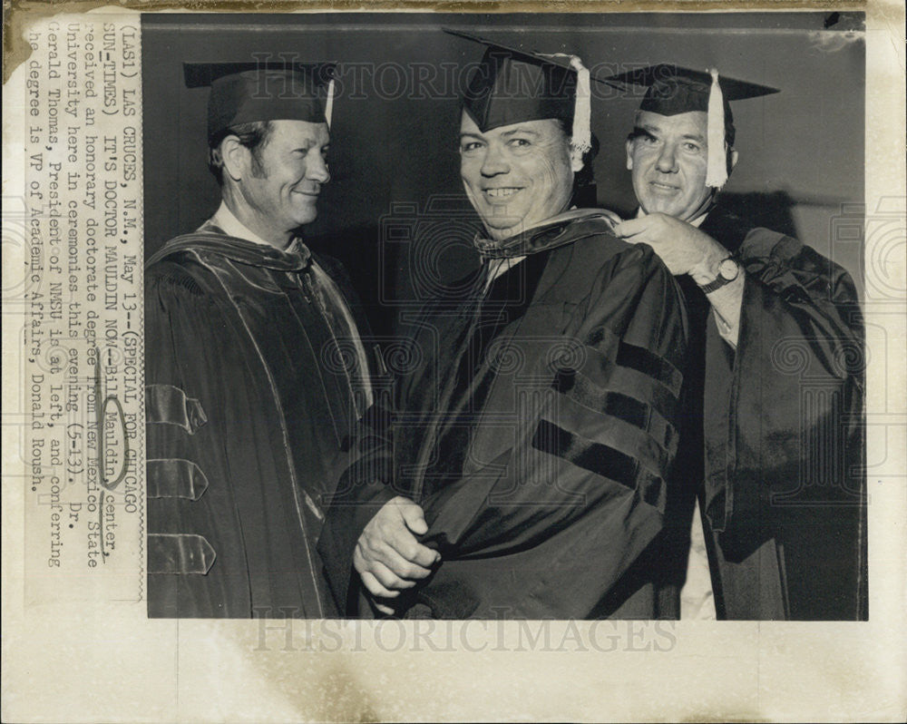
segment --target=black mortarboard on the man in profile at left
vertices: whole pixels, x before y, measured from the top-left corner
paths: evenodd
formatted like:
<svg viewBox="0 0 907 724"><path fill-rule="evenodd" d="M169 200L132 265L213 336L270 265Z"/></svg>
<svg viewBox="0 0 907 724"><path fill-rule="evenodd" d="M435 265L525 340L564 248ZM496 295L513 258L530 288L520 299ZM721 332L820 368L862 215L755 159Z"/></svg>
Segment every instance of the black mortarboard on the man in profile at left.
<svg viewBox="0 0 907 724"><path fill-rule="evenodd" d="M208 142L212 145L230 126L239 123L307 121L330 125L334 69L333 63L183 64L187 88L211 88Z"/></svg>

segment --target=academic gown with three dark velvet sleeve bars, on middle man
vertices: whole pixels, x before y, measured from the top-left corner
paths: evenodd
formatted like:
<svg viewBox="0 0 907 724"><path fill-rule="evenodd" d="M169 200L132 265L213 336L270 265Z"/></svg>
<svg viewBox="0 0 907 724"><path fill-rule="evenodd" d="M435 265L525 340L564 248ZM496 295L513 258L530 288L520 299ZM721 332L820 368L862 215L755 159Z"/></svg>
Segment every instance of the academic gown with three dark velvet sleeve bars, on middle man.
<svg viewBox="0 0 907 724"><path fill-rule="evenodd" d="M687 344L677 284L600 213L508 241L503 255L527 258L429 305L395 410L366 416L319 542L338 606L356 612L359 534L405 494L442 561L400 615L674 618L661 545Z"/></svg>

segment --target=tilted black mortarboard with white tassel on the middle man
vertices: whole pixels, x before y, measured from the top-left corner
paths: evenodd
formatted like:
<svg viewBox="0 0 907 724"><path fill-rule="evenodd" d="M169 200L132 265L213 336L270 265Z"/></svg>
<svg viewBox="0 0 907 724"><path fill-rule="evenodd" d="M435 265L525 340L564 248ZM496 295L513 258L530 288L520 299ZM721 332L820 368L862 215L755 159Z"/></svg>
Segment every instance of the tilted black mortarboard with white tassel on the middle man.
<svg viewBox="0 0 907 724"><path fill-rule="evenodd" d="M571 128L574 147L589 150L590 72L579 57L534 53L458 30L444 32L486 46L463 94L463 110L480 131L559 119Z"/></svg>

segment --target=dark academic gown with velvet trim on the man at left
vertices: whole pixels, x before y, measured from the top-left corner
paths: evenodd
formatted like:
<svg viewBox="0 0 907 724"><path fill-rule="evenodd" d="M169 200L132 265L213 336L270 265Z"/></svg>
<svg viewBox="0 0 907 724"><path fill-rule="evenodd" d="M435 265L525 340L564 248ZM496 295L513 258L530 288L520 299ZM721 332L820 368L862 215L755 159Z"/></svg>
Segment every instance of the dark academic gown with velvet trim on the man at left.
<svg viewBox="0 0 907 724"><path fill-rule="evenodd" d="M145 273L149 615L331 615L315 541L362 370L338 361L351 340L305 246L202 229ZM356 310L339 264L318 262Z"/></svg>

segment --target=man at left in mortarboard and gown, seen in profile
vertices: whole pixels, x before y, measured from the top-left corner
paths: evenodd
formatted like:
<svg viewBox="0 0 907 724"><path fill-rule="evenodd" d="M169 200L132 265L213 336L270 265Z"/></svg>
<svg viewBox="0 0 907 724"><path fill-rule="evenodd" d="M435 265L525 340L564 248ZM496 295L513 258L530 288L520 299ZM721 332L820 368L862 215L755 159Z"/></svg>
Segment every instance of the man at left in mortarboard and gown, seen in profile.
<svg viewBox="0 0 907 724"><path fill-rule="evenodd" d="M210 86L222 202L145 272L151 616L334 611L315 543L371 388L344 271L299 237L330 178L332 69L184 66Z"/></svg>

